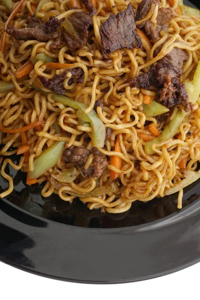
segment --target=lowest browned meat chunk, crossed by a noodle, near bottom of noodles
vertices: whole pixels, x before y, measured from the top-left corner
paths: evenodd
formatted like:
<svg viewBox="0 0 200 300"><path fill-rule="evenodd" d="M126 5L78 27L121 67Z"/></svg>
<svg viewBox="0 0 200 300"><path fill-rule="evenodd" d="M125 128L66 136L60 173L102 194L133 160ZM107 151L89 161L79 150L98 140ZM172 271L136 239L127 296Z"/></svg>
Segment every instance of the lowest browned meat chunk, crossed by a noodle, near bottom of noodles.
<svg viewBox="0 0 200 300"><path fill-rule="evenodd" d="M93 154L93 159L89 168L86 170L84 169L84 165L91 153ZM71 146L64 150L62 157L66 162L76 162L81 168L83 175L89 178L100 177L107 165L107 158L104 154L94 147L91 148L91 150L87 150L84 145Z"/></svg>

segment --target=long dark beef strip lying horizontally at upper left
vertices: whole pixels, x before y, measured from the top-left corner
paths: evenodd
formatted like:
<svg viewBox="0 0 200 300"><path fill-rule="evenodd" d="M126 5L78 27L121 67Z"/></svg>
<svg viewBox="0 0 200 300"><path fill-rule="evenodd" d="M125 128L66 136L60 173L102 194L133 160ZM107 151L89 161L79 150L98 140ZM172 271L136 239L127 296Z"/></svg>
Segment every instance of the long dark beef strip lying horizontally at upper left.
<svg viewBox="0 0 200 300"><path fill-rule="evenodd" d="M59 20L51 16L45 23L42 23L41 20L30 17L26 28L17 29L13 25L9 25L6 32L17 40L36 39L38 41L48 41L59 36L56 28L60 26L64 19Z"/></svg>

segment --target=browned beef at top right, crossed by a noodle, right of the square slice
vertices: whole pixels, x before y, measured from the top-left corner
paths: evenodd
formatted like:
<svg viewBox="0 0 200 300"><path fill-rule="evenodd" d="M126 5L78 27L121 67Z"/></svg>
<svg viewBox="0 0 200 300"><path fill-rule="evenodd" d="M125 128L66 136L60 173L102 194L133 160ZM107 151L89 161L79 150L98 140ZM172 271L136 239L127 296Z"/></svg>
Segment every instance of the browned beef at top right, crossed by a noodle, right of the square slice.
<svg viewBox="0 0 200 300"><path fill-rule="evenodd" d="M137 7L136 12L136 21L143 19L146 14L148 13L151 4L158 4L160 6L160 0L142 0ZM156 26L147 19L146 21L142 22L138 25L140 29L143 29L146 35L150 38L150 40L155 43L160 39L159 32L163 30L166 31L170 20L174 17L174 12L171 7L164 8L160 7L157 12L156 17Z"/></svg>

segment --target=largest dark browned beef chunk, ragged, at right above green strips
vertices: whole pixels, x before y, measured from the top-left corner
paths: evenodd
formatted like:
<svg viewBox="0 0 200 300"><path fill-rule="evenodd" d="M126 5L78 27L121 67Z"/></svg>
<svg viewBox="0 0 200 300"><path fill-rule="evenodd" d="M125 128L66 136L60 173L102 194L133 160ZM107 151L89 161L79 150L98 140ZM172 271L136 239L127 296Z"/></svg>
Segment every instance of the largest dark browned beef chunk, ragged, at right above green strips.
<svg viewBox="0 0 200 300"><path fill-rule="evenodd" d="M172 63L157 63L150 70L134 79L130 84L137 87L149 89L151 84L157 88L157 100L163 105L172 108L176 104L182 104L185 111L191 109L188 102L188 95L185 91L184 84L179 82L179 76L182 71Z"/></svg>

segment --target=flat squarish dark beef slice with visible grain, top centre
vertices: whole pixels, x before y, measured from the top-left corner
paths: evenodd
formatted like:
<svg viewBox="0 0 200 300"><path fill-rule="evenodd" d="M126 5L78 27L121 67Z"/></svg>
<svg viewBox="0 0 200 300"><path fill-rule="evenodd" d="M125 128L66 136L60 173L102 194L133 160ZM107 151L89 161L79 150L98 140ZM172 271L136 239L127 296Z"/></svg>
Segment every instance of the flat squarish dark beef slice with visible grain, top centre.
<svg viewBox="0 0 200 300"><path fill-rule="evenodd" d="M142 42L136 31L135 15L131 2L116 15L110 14L100 26L103 52L109 55L122 48L141 48Z"/></svg>

